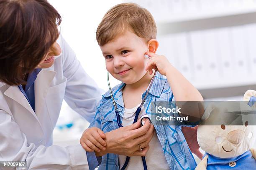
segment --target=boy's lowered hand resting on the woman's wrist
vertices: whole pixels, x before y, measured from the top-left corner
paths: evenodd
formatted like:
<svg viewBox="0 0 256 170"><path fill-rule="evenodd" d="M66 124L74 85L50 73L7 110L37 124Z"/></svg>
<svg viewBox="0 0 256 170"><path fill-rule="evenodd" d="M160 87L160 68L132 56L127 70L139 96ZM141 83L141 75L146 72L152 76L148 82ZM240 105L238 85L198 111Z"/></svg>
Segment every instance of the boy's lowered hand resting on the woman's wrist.
<svg viewBox="0 0 256 170"><path fill-rule="evenodd" d="M106 149L107 143L105 142L106 136L102 130L96 127L84 130L80 139L80 144L87 152L100 152Z"/></svg>

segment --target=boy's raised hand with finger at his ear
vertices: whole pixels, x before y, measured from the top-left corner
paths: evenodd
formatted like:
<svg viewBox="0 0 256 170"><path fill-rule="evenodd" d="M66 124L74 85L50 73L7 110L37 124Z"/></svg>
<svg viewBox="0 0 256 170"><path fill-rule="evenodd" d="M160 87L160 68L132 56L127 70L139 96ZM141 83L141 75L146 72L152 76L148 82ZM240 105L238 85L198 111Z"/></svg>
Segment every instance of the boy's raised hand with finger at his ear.
<svg viewBox="0 0 256 170"><path fill-rule="evenodd" d="M172 67L168 59L164 55L157 55L152 52L146 52L146 54L151 57L146 65L146 70L148 70L149 74L152 74L153 69L157 67L160 74L166 76L169 68Z"/></svg>

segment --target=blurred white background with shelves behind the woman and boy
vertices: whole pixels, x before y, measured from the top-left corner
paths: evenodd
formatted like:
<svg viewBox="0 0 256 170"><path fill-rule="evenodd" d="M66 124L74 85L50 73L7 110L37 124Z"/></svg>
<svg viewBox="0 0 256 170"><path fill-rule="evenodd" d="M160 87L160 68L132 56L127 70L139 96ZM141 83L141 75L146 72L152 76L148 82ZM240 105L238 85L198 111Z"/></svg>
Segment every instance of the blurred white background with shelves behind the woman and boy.
<svg viewBox="0 0 256 170"><path fill-rule="evenodd" d="M49 0L62 17L61 34L84 70L108 90L105 60L95 38L103 15L120 2L148 9L165 55L205 100L242 100L256 89L256 0ZM119 82L110 79L111 86ZM64 102L54 143L79 143L89 123Z"/></svg>

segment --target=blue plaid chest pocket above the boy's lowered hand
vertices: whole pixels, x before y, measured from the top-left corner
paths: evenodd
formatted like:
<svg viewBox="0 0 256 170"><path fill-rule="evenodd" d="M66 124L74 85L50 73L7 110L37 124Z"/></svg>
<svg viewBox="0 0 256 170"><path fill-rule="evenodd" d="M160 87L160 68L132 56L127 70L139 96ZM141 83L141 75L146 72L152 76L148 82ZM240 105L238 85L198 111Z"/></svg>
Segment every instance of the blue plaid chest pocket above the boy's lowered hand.
<svg viewBox="0 0 256 170"><path fill-rule="evenodd" d="M111 111L106 113L105 115L100 115L100 128L101 130L106 133L113 130L113 120L115 118L115 112Z"/></svg>

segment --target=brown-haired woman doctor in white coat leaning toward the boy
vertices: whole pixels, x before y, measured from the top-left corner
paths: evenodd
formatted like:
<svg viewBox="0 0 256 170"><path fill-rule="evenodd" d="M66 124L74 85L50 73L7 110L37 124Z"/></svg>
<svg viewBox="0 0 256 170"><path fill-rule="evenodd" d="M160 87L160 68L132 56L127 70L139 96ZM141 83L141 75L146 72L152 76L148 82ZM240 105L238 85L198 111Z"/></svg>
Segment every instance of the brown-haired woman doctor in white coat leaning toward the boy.
<svg viewBox="0 0 256 170"><path fill-rule="evenodd" d="M46 0L0 0L0 11L0 161L26 161L33 170L89 169L93 160L81 145L52 145L63 99L90 122L101 97L59 35L59 13ZM105 153L146 155L138 144L147 146L153 127L139 127L106 133Z"/></svg>

